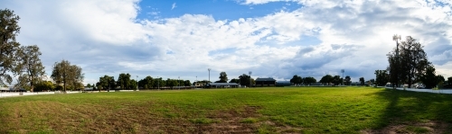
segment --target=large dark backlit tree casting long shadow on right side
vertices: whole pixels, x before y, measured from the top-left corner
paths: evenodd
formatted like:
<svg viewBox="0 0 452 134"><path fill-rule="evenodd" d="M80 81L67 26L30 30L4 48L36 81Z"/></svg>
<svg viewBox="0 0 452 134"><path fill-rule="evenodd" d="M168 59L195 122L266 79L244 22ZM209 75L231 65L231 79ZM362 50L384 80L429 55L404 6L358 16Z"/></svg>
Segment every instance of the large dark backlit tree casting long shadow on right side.
<svg viewBox="0 0 452 134"><path fill-rule="evenodd" d="M425 76L426 69L431 65L427 53L416 39L407 36L398 48L388 54L390 60L391 83L411 85Z"/></svg>

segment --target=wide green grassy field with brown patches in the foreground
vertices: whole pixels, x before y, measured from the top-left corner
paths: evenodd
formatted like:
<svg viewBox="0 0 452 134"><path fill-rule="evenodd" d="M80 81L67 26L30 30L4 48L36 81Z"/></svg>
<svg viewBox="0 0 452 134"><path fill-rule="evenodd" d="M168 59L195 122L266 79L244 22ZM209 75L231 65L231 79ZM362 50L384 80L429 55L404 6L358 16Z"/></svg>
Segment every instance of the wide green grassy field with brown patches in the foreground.
<svg viewBox="0 0 452 134"><path fill-rule="evenodd" d="M51 94L0 99L0 133L447 133L451 106L372 87Z"/></svg>

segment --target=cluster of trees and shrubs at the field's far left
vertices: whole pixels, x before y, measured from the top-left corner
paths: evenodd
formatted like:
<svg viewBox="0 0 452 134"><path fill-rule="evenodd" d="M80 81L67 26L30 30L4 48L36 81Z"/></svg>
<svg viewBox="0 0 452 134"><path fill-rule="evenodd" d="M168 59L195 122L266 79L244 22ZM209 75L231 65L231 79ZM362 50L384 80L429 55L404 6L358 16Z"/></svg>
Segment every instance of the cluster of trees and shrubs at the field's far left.
<svg viewBox="0 0 452 134"><path fill-rule="evenodd" d="M42 90L81 89L83 73L81 67L67 60L55 62L52 81L46 81L46 73L39 58L42 53L37 45L21 46L15 40L21 27L20 17L9 9L0 10L0 85L11 85L16 79L15 89L31 92ZM54 82L54 83L53 83Z"/></svg>

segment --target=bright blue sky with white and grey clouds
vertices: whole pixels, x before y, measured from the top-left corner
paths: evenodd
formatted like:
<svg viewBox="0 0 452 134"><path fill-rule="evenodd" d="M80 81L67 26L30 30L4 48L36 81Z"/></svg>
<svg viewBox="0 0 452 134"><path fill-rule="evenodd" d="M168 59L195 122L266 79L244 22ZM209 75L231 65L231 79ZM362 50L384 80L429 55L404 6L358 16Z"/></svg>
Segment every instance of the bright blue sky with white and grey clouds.
<svg viewBox="0 0 452 134"><path fill-rule="evenodd" d="M449 0L1 0L21 17L17 41L38 45L48 76L62 59L84 83L129 73L219 80L351 76L388 67L394 34L424 46L437 75L452 76Z"/></svg>

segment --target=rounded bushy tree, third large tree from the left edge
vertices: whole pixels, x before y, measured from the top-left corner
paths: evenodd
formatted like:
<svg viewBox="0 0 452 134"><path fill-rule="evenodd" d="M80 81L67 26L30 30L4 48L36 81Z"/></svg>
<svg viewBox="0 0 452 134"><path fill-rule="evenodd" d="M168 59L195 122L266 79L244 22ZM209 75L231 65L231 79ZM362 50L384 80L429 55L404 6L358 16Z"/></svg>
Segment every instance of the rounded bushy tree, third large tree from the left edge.
<svg viewBox="0 0 452 134"><path fill-rule="evenodd" d="M83 82L83 75L81 67L71 65L68 60L61 60L53 65L51 77L57 85L62 84L62 89L66 92L66 85L73 85L74 88L77 88Z"/></svg>

